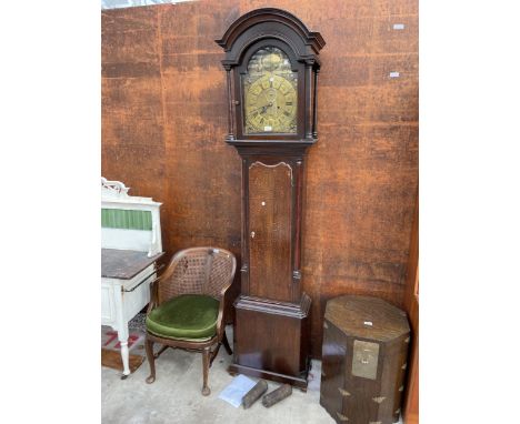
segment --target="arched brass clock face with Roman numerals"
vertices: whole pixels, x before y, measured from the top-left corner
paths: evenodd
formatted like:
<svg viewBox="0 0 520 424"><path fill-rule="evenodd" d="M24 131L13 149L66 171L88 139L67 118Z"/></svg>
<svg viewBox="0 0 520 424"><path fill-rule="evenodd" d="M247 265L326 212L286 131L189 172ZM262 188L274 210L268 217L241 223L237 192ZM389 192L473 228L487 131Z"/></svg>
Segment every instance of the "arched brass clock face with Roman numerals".
<svg viewBox="0 0 520 424"><path fill-rule="evenodd" d="M298 72L276 47L257 51L242 75L244 133L297 133Z"/></svg>

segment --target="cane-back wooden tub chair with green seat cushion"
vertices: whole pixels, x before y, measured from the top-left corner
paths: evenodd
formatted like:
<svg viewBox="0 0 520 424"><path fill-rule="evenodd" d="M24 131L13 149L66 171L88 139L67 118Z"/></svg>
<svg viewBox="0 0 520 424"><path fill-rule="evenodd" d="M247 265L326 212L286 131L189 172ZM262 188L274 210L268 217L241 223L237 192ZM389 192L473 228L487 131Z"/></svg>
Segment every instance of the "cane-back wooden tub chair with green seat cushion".
<svg viewBox="0 0 520 424"><path fill-rule="evenodd" d="M224 296L233 281L237 260L216 248L192 248L178 252L151 287L147 311L146 351L150 364L147 383L156 381L154 360L167 350L184 349L202 353L202 395L208 396L209 367L220 345L228 354ZM161 350L153 354L153 344Z"/></svg>

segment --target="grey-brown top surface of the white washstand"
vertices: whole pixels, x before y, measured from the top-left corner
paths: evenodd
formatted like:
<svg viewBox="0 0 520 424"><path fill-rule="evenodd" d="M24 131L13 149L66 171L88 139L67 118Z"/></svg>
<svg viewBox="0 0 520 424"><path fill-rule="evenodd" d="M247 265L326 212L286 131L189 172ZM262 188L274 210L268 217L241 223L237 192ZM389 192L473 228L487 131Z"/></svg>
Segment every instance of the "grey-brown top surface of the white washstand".
<svg viewBox="0 0 520 424"><path fill-rule="evenodd" d="M101 276L106 279L130 280L163 254L164 252L161 252L148 258L147 252L101 249Z"/></svg>

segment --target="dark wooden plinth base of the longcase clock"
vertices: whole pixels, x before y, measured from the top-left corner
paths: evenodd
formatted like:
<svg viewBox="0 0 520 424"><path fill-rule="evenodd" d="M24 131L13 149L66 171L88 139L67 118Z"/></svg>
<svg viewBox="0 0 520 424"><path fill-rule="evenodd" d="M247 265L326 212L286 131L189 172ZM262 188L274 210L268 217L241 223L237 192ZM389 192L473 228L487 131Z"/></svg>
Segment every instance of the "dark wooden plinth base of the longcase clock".
<svg viewBox="0 0 520 424"><path fill-rule="evenodd" d="M234 303L234 355L228 372L307 391L310 304L304 293L300 304L240 296Z"/></svg>

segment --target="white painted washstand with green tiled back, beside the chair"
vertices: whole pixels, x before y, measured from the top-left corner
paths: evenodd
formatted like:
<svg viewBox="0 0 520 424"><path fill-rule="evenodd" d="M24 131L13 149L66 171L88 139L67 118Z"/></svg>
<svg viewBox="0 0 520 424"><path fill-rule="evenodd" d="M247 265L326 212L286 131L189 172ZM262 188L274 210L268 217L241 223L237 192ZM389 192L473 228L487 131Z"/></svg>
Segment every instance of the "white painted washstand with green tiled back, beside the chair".
<svg viewBox="0 0 520 424"><path fill-rule="evenodd" d="M128 190L101 178L101 325L118 332L123 377L130 374L128 322L150 301L162 255L161 203L130 196Z"/></svg>

